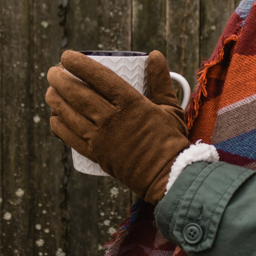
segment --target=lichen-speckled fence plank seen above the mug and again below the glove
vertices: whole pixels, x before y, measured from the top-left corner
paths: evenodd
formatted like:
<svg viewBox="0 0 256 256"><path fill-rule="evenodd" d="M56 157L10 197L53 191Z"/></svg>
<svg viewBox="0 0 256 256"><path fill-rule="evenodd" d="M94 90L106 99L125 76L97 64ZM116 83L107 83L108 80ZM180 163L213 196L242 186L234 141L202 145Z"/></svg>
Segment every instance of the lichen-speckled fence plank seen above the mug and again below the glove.
<svg viewBox="0 0 256 256"><path fill-rule="evenodd" d="M100 0L100 50L131 50L131 0ZM102 246L112 239L118 225L126 219L131 206L131 192L112 177L100 177L98 183L98 255Z"/></svg>

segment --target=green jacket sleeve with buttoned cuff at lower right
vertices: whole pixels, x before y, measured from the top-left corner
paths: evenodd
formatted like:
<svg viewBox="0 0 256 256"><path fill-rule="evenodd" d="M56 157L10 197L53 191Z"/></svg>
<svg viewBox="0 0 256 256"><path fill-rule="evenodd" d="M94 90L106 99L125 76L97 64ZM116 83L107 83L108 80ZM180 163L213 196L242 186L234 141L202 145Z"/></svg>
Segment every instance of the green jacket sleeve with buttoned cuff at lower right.
<svg viewBox="0 0 256 256"><path fill-rule="evenodd" d="M166 239L188 255L256 255L256 176L224 162L196 162L155 210Z"/></svg>

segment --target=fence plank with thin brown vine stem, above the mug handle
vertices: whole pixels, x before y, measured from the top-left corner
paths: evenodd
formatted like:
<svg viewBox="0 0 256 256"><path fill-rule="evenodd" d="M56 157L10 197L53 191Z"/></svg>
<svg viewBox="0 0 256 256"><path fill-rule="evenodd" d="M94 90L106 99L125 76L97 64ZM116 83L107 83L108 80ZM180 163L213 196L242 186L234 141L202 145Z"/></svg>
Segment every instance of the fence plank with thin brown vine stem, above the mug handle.
<svg viewBox="0 0 256 256"><path fill-rule="evenodd" d="M168 65L171 71L184 76L193 90L200 62L200 1L181 0L177 4L169 0L167 6Z"/></svg>

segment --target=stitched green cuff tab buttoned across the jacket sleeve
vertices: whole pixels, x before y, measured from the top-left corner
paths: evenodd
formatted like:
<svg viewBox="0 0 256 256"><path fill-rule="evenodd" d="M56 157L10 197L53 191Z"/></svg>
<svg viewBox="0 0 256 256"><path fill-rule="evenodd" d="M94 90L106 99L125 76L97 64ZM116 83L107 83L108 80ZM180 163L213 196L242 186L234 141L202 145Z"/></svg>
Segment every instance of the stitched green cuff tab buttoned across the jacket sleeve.
<svg viewBox="0 0 256 256"><path fill-rule="evenodd" d="M186 173L193 172L195 166ZM210 249L230 198L253 174L253 170L224 162L208 165L179 201L179 212L172 215L175 219L168 225L170 240L177 241L186 252Z"/></svg>

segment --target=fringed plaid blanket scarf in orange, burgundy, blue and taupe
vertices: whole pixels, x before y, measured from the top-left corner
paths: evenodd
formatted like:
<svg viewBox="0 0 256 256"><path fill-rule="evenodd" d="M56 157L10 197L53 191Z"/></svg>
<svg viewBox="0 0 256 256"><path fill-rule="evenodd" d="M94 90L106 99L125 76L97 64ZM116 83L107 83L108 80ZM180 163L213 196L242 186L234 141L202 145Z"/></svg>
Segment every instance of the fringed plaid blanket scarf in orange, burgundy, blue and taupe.
<svg viewBox="0 0 256 256"><path fill-rule="evenodd" d="M214 144L220 160L256 170L256 1L243 0L208 61L186 112L189 140ZM154 222L154 206L135 202L106 244L106 256L183 256Z"/></svg>

